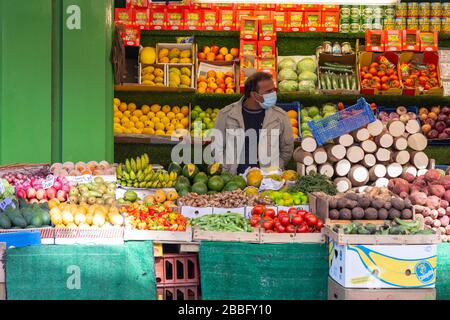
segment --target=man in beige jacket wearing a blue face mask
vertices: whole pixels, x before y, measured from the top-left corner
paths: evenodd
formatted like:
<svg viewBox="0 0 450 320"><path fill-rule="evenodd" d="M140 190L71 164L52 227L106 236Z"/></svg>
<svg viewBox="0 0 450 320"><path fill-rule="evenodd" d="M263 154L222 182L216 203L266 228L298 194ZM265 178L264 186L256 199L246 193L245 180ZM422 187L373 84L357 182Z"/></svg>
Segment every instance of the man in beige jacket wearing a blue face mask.
<svg viewBox="0 0 450 320"><path fill-rule="evenodd" d="M253 129L257 134L258 146L251 145L250 139L245 136L244 150L242 150L245 152L245 161L235 161L236 163L230 164L225 163L224 160L226 171L240 174L249 167L260 166L261 152L272 150L271 147L275 147L275 145L271 144L275 140L279 146L279 150L276 150L279 154L279 158L277 158L279 166L283 168L291 159L294 151L292 126L287 113L277 107L276 103L277 93L272 76L265 72L257 72L245 82L244 96L218 113L214 128L222 133L223 141L220 145L214 142L213 146L216 155L221 155L223 159L225 159L227 148L227 129L234 129L235 132L240 132L240 135ZM261 140L265 134L261 135L261 129L267 134L267 139L264 139L263 142ZM240 138L244 139L244 136ZM263 144L260 145L260 143ZM253 163L255 150L258 150L257 164Z"/></svg>

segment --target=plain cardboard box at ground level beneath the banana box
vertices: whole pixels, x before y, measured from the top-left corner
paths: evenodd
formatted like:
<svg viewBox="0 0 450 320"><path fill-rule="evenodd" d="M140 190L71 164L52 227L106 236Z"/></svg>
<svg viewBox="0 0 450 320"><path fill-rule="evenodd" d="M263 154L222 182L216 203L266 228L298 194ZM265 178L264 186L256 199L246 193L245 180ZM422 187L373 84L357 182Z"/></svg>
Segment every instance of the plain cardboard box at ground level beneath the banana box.
<svg viewBox="0 0 450 320"><path fill-rule="evenodd" d="M346 289L329 277L328 300L436 300L436 289Z"/></svg>

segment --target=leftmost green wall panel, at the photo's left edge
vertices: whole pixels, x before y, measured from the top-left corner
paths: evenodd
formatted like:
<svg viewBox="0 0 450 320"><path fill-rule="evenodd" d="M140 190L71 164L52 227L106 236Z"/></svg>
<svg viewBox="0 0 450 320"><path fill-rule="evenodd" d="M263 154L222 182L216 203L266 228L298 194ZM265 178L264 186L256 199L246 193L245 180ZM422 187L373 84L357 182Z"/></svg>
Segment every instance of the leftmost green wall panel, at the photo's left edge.
<svg viewBox="0 0 450 320"><path fill-rule="evenodd" d="M0 164L51 160L51 14L0 0Z"/></svg>

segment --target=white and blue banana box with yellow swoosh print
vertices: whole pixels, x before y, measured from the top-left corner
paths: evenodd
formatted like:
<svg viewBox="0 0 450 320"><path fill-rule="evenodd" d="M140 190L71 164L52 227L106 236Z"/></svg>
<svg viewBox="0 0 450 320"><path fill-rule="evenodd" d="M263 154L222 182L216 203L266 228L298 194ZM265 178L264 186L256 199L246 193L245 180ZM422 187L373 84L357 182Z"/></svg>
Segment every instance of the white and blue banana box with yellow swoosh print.
<svg viewBox="0 0 450 320"><path fill-rule="evenodd" d="M345 288L434 288L437 245L329 243L330 277Z"/></svg>

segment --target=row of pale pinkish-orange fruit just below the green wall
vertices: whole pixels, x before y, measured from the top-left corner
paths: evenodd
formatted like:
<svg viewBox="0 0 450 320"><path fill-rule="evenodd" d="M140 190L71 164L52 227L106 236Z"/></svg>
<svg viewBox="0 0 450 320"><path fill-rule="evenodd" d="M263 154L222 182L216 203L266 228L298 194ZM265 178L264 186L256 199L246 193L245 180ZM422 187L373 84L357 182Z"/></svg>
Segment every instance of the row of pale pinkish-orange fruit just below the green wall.
<svg viewBox="0 0 450 320"><path fill-rule="evenodd" d="M114 175L116 168L108 161L89 161L84 163L82 161L74 164L73 162L54 163L50 167L50 172L55 176L82 176L91 174L94 176L100 175Z"/></svg>

